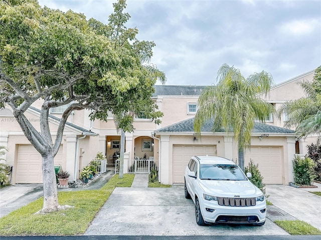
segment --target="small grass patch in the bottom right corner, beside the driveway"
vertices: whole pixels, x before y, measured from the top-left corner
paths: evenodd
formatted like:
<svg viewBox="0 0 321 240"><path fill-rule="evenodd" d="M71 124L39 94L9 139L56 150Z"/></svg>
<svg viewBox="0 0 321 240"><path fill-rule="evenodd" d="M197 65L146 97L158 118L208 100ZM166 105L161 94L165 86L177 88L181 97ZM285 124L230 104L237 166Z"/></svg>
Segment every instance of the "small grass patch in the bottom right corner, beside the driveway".
<svg viewBox="0 0 321 240"><path fill-rule="evenodd" d="M321 231L310 224L300 220L275 220L279 227L291 235L321 235Z"/></svg>

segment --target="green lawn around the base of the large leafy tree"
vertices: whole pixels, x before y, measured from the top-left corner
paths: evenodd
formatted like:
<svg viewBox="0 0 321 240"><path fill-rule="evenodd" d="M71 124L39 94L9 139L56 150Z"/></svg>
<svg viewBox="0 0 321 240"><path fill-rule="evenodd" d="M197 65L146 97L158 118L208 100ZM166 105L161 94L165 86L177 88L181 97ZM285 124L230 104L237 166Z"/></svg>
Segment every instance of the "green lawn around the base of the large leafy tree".
<svg viewBox="0 0 321 240"><path fill-rule="evenodd" d="M134 174L118 174L98 190L59 191L60 204L75 206L46 214L34 214L42 208L39 198L0 218L0 235L80 235L85 232L115 187L129 187Z"/></svg>

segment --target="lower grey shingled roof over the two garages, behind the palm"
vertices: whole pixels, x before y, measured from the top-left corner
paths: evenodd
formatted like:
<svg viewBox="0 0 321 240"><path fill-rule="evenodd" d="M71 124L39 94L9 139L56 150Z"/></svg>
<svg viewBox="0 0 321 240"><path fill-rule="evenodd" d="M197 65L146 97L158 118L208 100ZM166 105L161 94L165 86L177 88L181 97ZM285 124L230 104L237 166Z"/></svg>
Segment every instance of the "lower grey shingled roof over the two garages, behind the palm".
<svg viewBox="0 0 321 240"><path fill-rule="evenodd" d="M194 132L194 117L189 118L172 125L160 128L155 132ZM208 120L201 127L201 132L212 132L213 120ZM217 132L224 132L225 130L222 128ZM260 122L254 122L254 127L252 129L253 133L294 133L294 130L273 126L269 124L264 124Z"/></svg>

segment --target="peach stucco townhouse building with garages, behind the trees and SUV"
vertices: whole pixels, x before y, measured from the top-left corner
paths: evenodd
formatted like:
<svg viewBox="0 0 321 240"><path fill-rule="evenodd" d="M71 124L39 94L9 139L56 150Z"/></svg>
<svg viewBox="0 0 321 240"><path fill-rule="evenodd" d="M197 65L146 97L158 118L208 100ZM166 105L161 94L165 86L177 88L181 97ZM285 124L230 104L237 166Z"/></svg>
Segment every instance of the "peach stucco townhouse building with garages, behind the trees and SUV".
<svg viewBox="0 0 321 240"><path fill-rule="evenodd" d="M313 71L276 85L266 100L276 108L287 100L303 96L296 84L311 80ZM191 155L220 155L237 161L237 145L225 132L212 132L211 125L202 128L201 135L193 130L197 100L206 86L155 85L152 99L164 113L162 123L156 125L143 112L134 119L134 132L125 133L124 171L135 158L152 159L159 166L159 180L163 183L182 183L184 169ZM40 129L40 102L26 111L27 118ZM37 108L38 107L38 108ZM59 117L65 108L51 110L50 127L55 137ZM90 121L89 110L74 111L64 129L63 140L55 165L71 173L69 180L79 177L79 171L103 152L108 165L114 165L120 150L120 133L115 129L112 114L107 122ZM292 159L295 153L305 153L308 141L298 142L294 131L282 128L281 122L271 116L267 124L255 123L252 146L245 154L259 164L266 183L287 184L293 180ZM7 164L13 165L12 183L41 183L41 156L25 137L12 110L0 109L0 145L8 147ZM295 145L297 147L295 148Z"/></svg>

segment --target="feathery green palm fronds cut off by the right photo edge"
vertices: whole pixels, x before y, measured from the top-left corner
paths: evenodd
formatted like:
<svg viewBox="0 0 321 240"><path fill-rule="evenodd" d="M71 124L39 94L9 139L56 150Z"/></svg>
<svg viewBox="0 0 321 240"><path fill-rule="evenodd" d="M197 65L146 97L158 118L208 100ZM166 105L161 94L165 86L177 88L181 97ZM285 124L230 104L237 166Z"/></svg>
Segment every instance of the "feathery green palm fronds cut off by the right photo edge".
<svg viewBox="0 0 321 240"><path fill-rule="evenodd" d="M298 83L305 96L287 101L277 110L278 118L286 115L284 127L295 127L298 137L321 133L321 66L314 71L311 82L303 80Z"/></svg>

